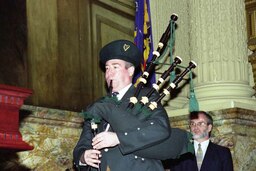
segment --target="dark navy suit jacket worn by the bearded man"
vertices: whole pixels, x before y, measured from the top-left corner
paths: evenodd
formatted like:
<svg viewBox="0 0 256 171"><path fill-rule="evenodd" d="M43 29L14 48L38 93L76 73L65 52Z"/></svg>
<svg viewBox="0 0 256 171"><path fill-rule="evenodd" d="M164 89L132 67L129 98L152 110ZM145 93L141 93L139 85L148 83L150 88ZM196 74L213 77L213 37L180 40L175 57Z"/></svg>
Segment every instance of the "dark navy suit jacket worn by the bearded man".
<svg viewBox="0 0 256 171"><path fill-rule="evenodd" d="M192 153L171 160L169 164L171 171L198 171L196 157ZM230 150L210 142L200 171L233 171Z"/></svg>

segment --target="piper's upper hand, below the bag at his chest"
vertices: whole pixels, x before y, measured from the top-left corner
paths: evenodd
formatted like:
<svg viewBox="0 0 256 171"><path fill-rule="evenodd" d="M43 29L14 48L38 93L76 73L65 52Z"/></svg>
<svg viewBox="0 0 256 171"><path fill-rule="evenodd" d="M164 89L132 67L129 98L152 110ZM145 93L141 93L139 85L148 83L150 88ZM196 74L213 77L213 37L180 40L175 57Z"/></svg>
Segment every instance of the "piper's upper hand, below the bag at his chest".
<svg viewBox="0 0 256 171"><path fill-rule="evenodd" d="M106 147L114 147L119 143L119 139L114 132L101 132L92 139L92 146L97 150Z"/></svg>

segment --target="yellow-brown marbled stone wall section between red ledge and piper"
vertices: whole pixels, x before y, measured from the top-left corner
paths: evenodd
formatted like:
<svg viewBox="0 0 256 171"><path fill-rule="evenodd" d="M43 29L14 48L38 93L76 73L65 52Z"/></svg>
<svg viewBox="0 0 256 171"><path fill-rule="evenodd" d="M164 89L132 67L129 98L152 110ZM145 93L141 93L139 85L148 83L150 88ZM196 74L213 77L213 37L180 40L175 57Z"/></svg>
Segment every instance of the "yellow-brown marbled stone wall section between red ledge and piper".
<svg viewBox="0 0 256 171"><path fill-rule="evenodd" d="M76 112L26 106L20 111L23 140L34 146L31 151L3 152L1 169L36 171L73 170L73 149L81 133L82 116Z"/></svg>

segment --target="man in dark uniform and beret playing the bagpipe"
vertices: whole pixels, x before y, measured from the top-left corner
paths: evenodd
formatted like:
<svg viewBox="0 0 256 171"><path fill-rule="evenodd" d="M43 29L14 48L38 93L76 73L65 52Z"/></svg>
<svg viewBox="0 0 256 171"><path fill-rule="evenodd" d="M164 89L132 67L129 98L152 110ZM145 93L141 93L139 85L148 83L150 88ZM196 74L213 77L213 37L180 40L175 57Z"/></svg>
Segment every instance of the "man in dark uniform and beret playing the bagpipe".
<svg viewBox="0 0 256 171"><path fill-rule="evenodd" d="M75 166L80 169L101 171L163 171L159 159L137 155L136 152L164 141L170 134L170 124L166 111L159 105L142 124L132 126L136 117L127 112L129 99L135 93L132 78L135 68L141 63L142 55L138 48L130 41L117 40L104 46L100 51L100 62L105 65L105 79L112 92L118 92L118 105L98 103L98 107L107 113L106 117L118 116L123 119L116 125L110 125L106 131L106 120L99 123L99 132L95 137L91 133L91 123L85 120L80 139L74 149ZM111 85L112 84L112 85ZM139 97L147 93L147 89L140 91ZM151 96L158 97L157 93ZM91 107L93 107L92 105ZM97 106L97 104L96 104ZM108 106L110 110L108 110ZM118 107L116 107L118 106ZM96 109L97 110L97 109ZM135 120L134 120L135 118ZM108 118L111 120L111 118ZM113 120L113 119L112 119ZM122 123L121 123L122 122ZM124 126L118 130L120 124ZM131 126L129 127L129 124ZM105 150L104 150L105 149Z"/></svg>

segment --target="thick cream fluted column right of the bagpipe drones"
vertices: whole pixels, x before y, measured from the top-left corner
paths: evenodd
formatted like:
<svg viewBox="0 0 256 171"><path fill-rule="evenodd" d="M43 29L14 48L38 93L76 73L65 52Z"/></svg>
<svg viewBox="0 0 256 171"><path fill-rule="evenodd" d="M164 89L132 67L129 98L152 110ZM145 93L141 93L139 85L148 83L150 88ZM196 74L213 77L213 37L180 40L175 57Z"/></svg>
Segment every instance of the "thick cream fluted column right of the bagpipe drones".
<svg viewBox="0 0 256 171"><path fill-rule="evenodd" d="M191 56L198 63L195 92L200 109L256 106L249 85L244 1L193 0L189 6Z"/></svg>

